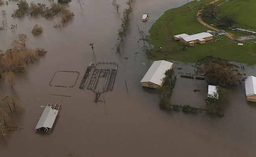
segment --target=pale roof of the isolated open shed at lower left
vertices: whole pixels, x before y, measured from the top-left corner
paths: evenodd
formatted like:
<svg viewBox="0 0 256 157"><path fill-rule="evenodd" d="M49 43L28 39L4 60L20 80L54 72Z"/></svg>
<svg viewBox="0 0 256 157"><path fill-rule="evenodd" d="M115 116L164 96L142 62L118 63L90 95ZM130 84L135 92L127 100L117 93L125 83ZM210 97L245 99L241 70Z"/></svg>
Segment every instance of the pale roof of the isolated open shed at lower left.
<svg viewBox="0 0 256 157"><path fill-rule="evenodd" d="M52 106L46 106L37 125L35 126L35 129L39 129L42 127L52 128L58 112L58 110L53 110Z"/></svg>

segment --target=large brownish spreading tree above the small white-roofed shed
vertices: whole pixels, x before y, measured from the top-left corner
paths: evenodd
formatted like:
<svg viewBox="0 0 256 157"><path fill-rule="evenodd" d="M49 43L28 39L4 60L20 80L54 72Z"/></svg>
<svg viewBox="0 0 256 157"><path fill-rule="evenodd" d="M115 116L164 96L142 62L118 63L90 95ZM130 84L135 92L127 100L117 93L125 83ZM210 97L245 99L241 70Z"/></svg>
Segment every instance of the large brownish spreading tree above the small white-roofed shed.
<svg viewBox="0 0 256 157"><path fill-rule="evenodd" d="M241 83L245 77L238 70L238 66L231 64L228 60L207 56L195 65L196 72L206 77L206 81L220 86L229 86L235 82Z"/></svg>

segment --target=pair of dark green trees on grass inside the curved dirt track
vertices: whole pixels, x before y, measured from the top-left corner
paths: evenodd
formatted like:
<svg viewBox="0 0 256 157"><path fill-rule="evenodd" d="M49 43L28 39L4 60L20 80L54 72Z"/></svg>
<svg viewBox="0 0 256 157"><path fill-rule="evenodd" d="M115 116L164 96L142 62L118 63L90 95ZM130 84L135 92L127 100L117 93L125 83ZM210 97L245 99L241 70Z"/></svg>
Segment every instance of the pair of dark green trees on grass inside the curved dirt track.
<svg viewBox="0 0 256 157"><path fill-rule="evenodd" d="M237 24L237 16L235 13L229 15L218 16L221 10L214 4L208 4L204 7L202 16L206 18L214 19L219 27L227 28Z"/></svg>

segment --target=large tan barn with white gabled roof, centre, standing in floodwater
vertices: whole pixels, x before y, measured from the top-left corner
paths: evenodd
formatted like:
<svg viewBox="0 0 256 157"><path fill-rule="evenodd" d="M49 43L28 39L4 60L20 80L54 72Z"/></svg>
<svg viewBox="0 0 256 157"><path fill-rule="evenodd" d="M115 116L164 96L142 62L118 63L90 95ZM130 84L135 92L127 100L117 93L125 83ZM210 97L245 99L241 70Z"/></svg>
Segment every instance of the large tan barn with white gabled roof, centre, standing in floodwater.
<svg viewBox="0 0 256 157"><path fill-rule="evenodd" d="M141 80L141 85L150 88L159 88L163 85L165 71L173 68L173 63L165 60L154 61Z"/></svg>

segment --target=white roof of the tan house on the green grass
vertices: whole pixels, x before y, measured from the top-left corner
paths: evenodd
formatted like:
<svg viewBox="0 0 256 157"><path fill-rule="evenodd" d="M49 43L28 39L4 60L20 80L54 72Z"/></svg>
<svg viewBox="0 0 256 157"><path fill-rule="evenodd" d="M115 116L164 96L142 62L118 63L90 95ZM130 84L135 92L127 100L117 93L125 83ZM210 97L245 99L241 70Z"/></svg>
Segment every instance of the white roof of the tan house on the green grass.
<svg viewBox="0 0 256 157"><path fill-rule="evenodd" d="M183 33L180 35L174 35L174 37L183 38L183 40L185 40L186 42L191 42L193 40L204 41L204 38L213 37L213 35L211 35L208 32L202 32L202 33L197 33L197 34L193 34L193 35L187 35L187 34Z"/></svg>

